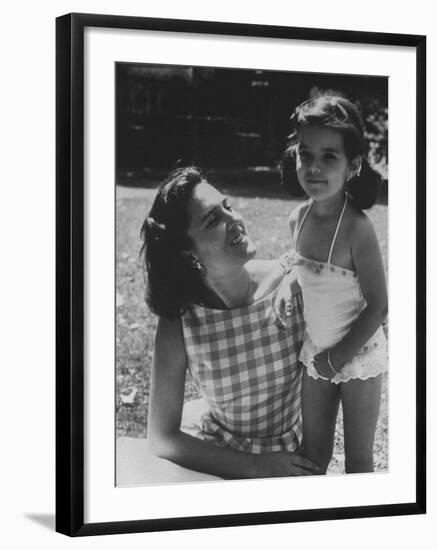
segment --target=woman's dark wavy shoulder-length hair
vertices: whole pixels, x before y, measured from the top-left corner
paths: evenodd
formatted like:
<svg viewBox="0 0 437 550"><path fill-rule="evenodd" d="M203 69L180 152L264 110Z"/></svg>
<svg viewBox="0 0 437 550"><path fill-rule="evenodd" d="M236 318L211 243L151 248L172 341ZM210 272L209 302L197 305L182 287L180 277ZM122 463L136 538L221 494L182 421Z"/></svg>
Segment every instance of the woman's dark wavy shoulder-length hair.
<svg viewBox="0 0 437 550"><path fill-rule="evenodd" d="M149 215L141 227L147 272L146 302L157 315L176 319L193 302L202 302L204 285L187 255L193 243L188 202L194 188L205 181L195 166L178 168L161 183Z"/></svg>

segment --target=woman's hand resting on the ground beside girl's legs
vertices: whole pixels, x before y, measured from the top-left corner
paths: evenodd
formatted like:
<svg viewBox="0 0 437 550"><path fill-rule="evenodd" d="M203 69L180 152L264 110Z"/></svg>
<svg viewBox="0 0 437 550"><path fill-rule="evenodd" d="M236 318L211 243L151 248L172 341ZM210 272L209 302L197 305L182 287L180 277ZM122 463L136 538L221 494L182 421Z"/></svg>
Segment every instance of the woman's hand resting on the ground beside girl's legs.
<svg viewBox="0 0 437 550"><path fill-rule="evenodd" d="M320 473L317 464L298 453L280 451L256 455L255 477L311 476Z"/></svg>

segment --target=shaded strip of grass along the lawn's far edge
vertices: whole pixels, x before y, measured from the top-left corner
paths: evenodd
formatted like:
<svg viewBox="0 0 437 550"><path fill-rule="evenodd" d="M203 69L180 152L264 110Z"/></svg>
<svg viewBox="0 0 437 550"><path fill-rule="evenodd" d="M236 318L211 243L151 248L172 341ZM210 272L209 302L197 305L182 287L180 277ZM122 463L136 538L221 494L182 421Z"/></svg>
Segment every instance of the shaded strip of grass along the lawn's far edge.
<svg viewBox="0 0 437 550"><path fill-rule="evenodd" d="M117 178L117 185L137 189L155 189L168 172L130 172ZM279 169L205 170L211 183L228 195L290 199L281 184ZM376 204L388 204L388 184L384 180Z"/></svg>

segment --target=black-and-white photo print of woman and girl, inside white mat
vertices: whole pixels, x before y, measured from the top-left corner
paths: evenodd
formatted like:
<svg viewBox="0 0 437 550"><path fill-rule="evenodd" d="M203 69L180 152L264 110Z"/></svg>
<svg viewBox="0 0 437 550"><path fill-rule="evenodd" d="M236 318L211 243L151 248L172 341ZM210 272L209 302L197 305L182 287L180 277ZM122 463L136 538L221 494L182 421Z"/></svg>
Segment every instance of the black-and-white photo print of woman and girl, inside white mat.
<svg viewBox="0 0 437 550"><path fill-rule="evenodd" d="M117 486L389 471L388 84L116 64Z"/></svg>

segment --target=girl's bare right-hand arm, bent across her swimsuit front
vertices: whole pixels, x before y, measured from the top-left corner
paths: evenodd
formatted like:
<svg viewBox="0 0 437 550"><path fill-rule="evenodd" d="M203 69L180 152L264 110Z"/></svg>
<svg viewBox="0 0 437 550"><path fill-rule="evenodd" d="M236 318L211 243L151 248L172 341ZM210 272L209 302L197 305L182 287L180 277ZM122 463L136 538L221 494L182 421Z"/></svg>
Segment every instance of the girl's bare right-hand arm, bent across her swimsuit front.
<svg viewBox="0 0 437 550"><path fill-rule="evenodd" d="M346 336L330 350L330 361L339 370L373 336L387 316L387 288L378 240L371 221L360 215L354 228L352 260L367 306ZM317 359L316 359L317 358ZM332 377L327 352L316 356L316 368Z"/></svg>

